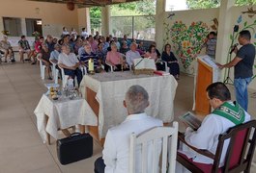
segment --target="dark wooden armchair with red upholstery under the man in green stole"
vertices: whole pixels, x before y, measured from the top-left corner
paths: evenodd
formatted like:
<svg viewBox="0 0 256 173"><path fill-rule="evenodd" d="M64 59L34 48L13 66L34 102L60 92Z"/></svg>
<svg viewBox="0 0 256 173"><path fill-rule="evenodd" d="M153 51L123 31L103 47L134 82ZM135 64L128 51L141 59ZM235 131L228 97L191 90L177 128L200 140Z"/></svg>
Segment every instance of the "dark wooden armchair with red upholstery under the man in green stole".
<svg viewBox="0 0 256 173"><path fill-rule="evenodd" d="M230 128L226 133L218 136L218 145L216 153L212 154L206 150L199 150L192 146L189 146L185 142L184 135L179 134L179 141L183 141L201 155L213 159L213 164L204 164L194 162L191 159L187 159L182 153L177 154L177 161L185 166L191 172L250 172L250 165L255 150L256 139L256 120L248 121L244 124ZM224 160L224 165L219 167L219 161L222 154L224 142L228 142L228 148Z"/></svg>

